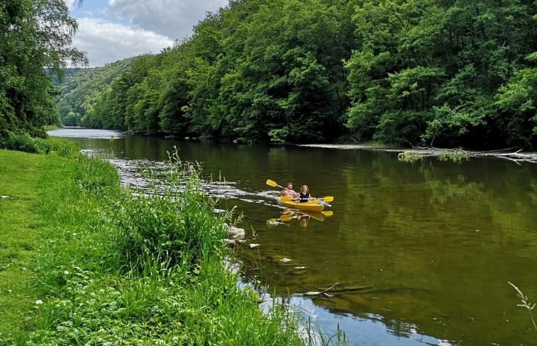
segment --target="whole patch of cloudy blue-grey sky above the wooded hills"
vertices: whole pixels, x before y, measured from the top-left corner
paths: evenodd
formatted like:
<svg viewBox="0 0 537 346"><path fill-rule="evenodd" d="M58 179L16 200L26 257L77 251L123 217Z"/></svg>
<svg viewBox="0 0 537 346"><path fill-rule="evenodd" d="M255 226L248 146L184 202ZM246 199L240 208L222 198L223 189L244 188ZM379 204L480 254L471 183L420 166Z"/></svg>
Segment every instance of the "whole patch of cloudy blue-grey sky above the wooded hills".
<svg viewBox="0 0 537 346"><path fill-rule="evenodd" d="M87 53L89 67L158 53L226 6L228 0L64 0L79 27L72 45Z"/></svg>

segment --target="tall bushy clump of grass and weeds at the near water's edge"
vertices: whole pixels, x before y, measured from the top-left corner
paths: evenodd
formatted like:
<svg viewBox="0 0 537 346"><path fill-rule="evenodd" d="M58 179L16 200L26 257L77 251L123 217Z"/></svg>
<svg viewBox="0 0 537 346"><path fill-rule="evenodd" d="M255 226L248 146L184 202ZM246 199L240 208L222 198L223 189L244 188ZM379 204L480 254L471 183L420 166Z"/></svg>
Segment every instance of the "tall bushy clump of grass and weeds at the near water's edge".
<svg viewBox="0 0 537 346"><path fill-rule="evenodd" d="M149 195L140 190L123 198L118 215L119 252L125 265L140 270L145 269L140 260L147 264L150 254L168 259L162 269L199 271L209 254L223 255L221 239L226 236L226 228L223 219L213 214L214 202L199 190L197 173L191 170L184 175L177 152L169 164L164 186L157 185L153 176Z"/></svg>

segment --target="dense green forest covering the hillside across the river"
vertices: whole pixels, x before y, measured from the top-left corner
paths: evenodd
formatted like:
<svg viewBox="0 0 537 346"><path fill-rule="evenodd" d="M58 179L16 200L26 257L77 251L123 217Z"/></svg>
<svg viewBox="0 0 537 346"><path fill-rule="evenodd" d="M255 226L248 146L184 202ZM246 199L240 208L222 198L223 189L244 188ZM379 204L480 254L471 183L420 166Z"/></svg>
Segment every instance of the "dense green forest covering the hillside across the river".
<svg viewBox="0 0 537 346"><path fill-rule="evenodd" d="M536 47L533 0L231 0L159 54L69 71L58 110L65 125L241 142L534 150ZM16 83L0 86L2 126L40 113L4 115Z"/></svg>

